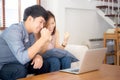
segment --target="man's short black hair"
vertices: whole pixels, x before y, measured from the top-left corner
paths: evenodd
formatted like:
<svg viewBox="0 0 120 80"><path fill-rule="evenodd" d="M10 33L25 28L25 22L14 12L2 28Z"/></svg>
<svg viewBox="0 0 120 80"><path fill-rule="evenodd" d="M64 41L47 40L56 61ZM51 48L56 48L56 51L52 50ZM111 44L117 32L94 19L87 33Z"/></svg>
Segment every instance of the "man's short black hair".
<svg viewBox="0 0 120 80"><path fill-rule="evenodd" d="M42 16L45 20L47 20L48 14L42 6L33 5L25 9L23 21L26 21L28 16L32 16L33 18Z"/></svg>

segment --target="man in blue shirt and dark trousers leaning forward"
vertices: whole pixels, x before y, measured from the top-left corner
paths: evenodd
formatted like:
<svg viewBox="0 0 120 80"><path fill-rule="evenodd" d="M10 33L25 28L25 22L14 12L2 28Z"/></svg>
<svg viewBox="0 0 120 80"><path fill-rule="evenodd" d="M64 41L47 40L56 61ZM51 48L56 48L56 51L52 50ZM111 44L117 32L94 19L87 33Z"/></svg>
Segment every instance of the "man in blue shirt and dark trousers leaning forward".
<svg viewBox="0 0 120 80"><path fill-rule="evenodd" d="M40 5L34 5L26 8L23 20L5 29L0 36L0 78L3 80L25 77L25 64L31 60L34 69L43 65L43 59L37 53L50 39L49 30L43 28L47 12ZM33 34L41 35L35 43L30 38Z"/></svg>

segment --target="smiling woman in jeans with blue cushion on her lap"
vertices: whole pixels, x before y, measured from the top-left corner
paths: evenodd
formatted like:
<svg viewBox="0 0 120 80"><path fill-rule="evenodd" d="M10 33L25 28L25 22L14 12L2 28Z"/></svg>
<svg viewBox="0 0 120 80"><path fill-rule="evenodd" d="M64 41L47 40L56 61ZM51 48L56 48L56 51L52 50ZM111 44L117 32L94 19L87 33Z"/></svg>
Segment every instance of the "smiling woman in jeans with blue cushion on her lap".
<svg viewBox="0 0 120 80"><path fill-rule="evenodd" d="M50 72L70 68L71 62L78 61L78 59L68 51L64 50L68 42L69 34L65 34L64 41L60 44L59 33L56 30L55 16L50 11L48 11L48 20L45 27L51 32L51 41L46 43L41 53L44 59L50 61Z"/></svg>

